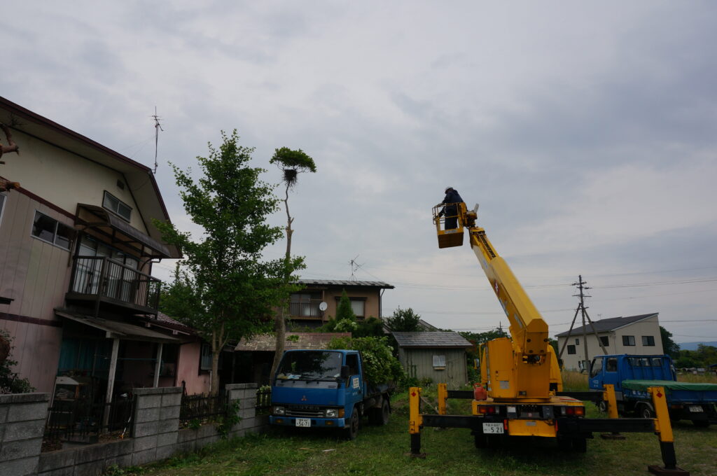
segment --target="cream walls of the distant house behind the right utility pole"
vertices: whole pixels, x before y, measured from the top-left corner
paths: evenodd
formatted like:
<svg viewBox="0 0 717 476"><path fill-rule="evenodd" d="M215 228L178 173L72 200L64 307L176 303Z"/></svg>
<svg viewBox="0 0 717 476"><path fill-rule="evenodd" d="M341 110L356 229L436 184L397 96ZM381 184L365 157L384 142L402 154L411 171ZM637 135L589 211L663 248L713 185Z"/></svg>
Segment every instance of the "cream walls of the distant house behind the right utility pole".
<svg viewBox="0 0 717 476"><path fill-rule="evenodd" d="M652 316L650 318L646 318L644 320L640 320L637 323L632 323L625 325L625 327L618 328L616 330L611 330L608 332L602 332L598 333L599 336L607 336L608 338L608 346L605 347L605 350L609 354L632 354L632 355L652 355L652 354L662 354L663 351L663 342L660 338L660 322L657 318L657 315ZM623 335L632 335L635 337L635 346L623 346L622 345L622 336ZM642 345L642 336L643 335L652 335L652 337L655 338L655 346L643 346ZM579 369L579 362L583 361L585 358L585 347L584 347L584 339L583 335L580 334L574 334L571 335L569 338L567 338L568 343L567 345L575 345L576 340L579 342L578 345L575 346L575 353L572 355L568 354L568 348L567 345L565 347L565 351L563 352L563 368L566 368L567 370L578 370ZM559 337L558 338L558 350L560 350L566 341L565 337ZM597 338L592 333L587 333L587 347L588 347L588 360L592 361L592 358L594 356L602 355L602 349L600 348L599 343L597 342Z"/></svg>

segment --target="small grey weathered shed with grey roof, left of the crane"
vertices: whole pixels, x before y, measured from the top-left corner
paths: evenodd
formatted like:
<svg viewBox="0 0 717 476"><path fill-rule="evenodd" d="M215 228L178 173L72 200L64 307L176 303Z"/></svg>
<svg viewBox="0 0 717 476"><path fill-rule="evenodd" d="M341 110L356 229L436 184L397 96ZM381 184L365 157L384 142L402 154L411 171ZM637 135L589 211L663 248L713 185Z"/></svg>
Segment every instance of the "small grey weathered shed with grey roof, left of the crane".
<svg viewBox="0 0 717 476"><path fill-rule="evenodd" d="M467 348L473 344L457 332L394 332L399 361L409 377L431 379L457 389L468 381Z"/></svg>

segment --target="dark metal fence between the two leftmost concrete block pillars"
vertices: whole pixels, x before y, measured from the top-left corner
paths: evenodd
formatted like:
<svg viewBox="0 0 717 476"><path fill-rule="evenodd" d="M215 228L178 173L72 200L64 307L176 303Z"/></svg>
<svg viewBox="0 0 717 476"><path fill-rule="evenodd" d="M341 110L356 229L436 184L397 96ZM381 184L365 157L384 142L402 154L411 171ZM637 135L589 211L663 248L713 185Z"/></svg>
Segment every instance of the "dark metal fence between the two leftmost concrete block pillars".
<svg viewBox="0 0 717 476"><path fill-rule="evenodd" d="M102 433L130 437L135 400L92 403L84 399L55 400L47 409L44 437L68 442L96 442Z"/></svg>

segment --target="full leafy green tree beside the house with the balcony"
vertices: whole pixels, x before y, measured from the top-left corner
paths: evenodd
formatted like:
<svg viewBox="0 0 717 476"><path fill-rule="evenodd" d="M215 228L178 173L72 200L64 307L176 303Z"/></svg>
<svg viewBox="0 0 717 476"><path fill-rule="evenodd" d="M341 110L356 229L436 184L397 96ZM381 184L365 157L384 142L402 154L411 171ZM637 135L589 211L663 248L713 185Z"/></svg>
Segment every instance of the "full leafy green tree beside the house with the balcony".
<svg viewBox="0 0 717 476"><path fill-rule="evenodd" d="M166 286L161 309L189 325L212 345L212 394L219 391L219 354L229 342L262 332L272 305L292 290L286 277L300 260L262 260L262 250L280 239L281 227L270 227L276 211L272 186L260 181L262 168L249 166L253 148L239 146L239 136L222 132L219 149L209 144L209 157L197 157L203 176L176 166L184 209L202 228L201 237L180 232L169 222L155 222L163 239L184 254L185 270L177 270Z"/></svg>

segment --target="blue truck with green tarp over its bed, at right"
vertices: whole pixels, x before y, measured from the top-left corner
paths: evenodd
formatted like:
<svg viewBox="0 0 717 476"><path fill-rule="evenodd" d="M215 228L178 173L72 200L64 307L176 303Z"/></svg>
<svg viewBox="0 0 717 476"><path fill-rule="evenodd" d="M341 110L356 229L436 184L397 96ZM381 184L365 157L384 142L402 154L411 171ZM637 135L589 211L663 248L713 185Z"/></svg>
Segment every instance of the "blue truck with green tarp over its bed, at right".
<svg viewBox="0 0 717 476"><path fill-rule="evenodd" d="M647 387L662 386L671 420L690 420L695 427L717 424L717 384L678 382L670 356L597 356L590 366L590 390L602 391L604 384L614 385L620 414L654 418Z"/></svg>

